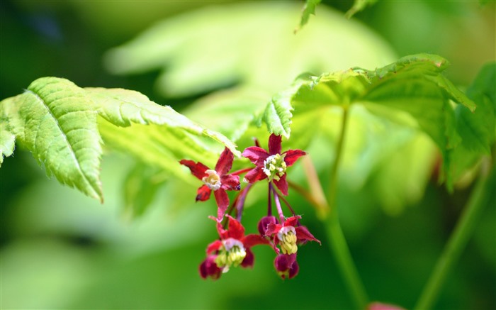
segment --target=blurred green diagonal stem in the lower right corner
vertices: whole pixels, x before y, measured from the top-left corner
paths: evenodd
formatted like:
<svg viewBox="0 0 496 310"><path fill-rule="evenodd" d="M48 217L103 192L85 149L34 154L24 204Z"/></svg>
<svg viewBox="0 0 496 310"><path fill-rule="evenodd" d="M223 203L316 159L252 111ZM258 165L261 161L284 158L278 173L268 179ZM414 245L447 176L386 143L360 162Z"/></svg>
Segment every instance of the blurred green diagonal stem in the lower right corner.
<svg viewBox="0 0 496 310"><path fill-rule="evenodd" d="M439 260L436 262L436 266L434 267L422 294L420 294L415 309L431 309L434 305L434 302L441 291L441 286L444 284L446 277L456 264L463 248L465 248L484 206L490 204L491 193L496 186L495 175L495 169L493 168L492 172L490 172L490 176L485 177L481 175L477 184L475 184L475 188L473 189L472 194L470 194L466 209L463 211L458 223L456 223L456 227L453 233L451 233L448 243L446 243L443 253L441 253L441 257L439 257Z"/></svg>

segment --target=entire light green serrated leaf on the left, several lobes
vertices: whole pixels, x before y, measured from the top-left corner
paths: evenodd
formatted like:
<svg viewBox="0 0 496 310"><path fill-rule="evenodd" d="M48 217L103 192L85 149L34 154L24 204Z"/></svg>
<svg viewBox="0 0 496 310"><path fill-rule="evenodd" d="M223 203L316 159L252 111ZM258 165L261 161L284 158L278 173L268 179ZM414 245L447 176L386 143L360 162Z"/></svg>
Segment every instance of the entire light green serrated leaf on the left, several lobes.
<svg viewBox="0 0 496 310"><path fill-rule="evenodd" d="M224 135L125 89L82 89L67 79L44 77L0 105L2 157L11 155L15 135L45 165L48 175L101 201L102 150L97 116L102 118L98 121L100 131L110 145L176 175L182 175L178 158L210 153L195 137L211 138L239 155L235 144ZM132 124L133 131L122 128Z"/></svg>

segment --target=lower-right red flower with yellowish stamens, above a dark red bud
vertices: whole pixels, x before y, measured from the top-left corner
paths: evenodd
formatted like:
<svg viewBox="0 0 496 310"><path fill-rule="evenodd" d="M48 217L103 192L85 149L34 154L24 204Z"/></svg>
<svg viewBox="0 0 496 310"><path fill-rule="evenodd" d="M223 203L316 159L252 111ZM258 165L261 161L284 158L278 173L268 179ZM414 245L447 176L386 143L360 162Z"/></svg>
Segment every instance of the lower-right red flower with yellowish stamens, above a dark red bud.
<svg viewBox="0 0 496 310"><path fill-rule="evenodd" d="M300 218L301 216L291 216L282 225L275 221L267 225L265 236L274 238L274 246L280 245L283 254L295 254L298 251L297 244L306 243L308 240L320 243L305 226L298 226Z"/></svg>

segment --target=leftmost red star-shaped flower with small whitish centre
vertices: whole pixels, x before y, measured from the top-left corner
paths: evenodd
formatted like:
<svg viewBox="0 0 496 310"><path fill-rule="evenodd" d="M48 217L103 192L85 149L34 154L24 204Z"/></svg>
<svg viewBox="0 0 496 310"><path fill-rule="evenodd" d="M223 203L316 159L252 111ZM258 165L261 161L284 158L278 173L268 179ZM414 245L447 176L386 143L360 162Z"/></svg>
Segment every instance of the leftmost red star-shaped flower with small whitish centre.
<svg viewBox="0 0 496 310"><path fill-rule="evenodd" d="M228 175L227 172L231 170L232 160L234 155L228 148L225 148L220 154L215 170L210 170L201 162L193 162L193 160L181 160L179 163L185 165L191 170L191 174L201 179L203 184L196 194L196 201L205 201L210 198L210 193L213 191L215 201L218 205L218 219L221 220L225 214L225 210L229 206L229 197L226 190L239 191L241 186L239 184L238 175Z"/></svg>

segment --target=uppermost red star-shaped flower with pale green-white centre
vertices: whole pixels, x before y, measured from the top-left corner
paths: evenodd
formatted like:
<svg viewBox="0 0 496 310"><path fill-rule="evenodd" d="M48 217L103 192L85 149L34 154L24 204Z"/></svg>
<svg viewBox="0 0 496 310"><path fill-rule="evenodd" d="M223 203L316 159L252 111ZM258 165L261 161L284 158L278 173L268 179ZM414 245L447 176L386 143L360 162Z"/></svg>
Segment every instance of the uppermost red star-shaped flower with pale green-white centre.
<svg viewBox="0 0 496 310"><path fill-rule="evenodd" d="M288 181L286 181L286 168L293 165L300 156L305 155L303 150L287 150L281 153L281 135L271 134L269 137L269 152L258 146L246 148L242 156L247 157L254 165L244 179L254 183L268 178L273 181L283 195L288 194Z"/></svg>

